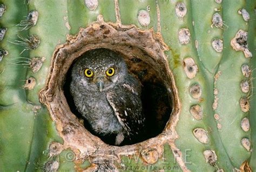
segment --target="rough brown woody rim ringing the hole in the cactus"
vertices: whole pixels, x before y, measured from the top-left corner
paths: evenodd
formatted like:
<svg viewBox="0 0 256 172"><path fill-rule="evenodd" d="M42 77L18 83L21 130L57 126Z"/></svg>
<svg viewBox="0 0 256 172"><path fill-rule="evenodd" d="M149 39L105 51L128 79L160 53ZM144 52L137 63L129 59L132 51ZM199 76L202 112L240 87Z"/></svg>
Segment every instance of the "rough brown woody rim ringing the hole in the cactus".
<svg viewBox="0 0 256 172"><path fill-rule="evenodd" d="M125 39L128 37L131 39ZM164 64L166 73L169 76L167 79L171 81L169 88L170 91L172 90L173 110L164 131L157 135L157 137L134 145L117 147L105 144L79 123L75 114L71 113L69 109L69 105L62 91L62 85L64 83L65 73L68 71L73 60L81 54L95 48L108 48L113 51L118 49L118 52L120 52L120 49L124 46L135 46L143 49L151 58L156 57L154 60ZM164 44L161 35L153 33L153 30L139 30L134 26L120 26L113 23L105 23L99 18L98 21L92 23L90 26L80 28L76 36L72 37L68 35L68 41L56 47L52 56L48 80L46 81L45 87L39 92L39 99L41 103L48 107L51 118L56 123L57 131L64 141L63 145L71 148L75 152L77 159L84 159L90 156L83 155L83 152L88 149L95 150L97 148L102 148L103 150L114 148L117 159L120 159L122 155L130 155L131 153L139 154L139 150L150 147L157 147L157 152L161 154L163 153L163 145L165 143L169 143L172 150L177 150L174 144L174 140L178 138L175 127L178 123L181 104L173 74L164 54L164 51L167 51L167 49L168 47ZM127 152L127 149L133 149L134 151Z"/></svg>

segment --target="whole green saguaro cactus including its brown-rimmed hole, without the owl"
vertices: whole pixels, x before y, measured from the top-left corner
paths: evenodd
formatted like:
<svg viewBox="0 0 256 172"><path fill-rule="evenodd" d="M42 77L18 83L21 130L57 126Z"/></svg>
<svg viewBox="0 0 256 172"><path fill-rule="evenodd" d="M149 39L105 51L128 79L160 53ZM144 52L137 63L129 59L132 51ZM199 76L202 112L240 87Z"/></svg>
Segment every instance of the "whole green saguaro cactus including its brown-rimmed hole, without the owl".
<svg viewBox="0 0 256 172"><path fill-rule="evenodd" d="M255 6L0 1L0 170L256 170ZM156 137L111 146L75 116L69 68L100 47L123 54L144 88L153 83L157 122L148 132L165 126Z"/></svg>

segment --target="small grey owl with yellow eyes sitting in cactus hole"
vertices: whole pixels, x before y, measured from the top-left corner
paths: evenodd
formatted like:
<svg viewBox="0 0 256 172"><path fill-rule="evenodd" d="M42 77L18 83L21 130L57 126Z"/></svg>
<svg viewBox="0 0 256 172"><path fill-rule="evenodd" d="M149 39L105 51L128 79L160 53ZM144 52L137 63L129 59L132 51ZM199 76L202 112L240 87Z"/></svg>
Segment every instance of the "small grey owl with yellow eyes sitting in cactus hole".
<svg viewBox="0 0 256 172"><path fill-rule="evenodd" d="M138 135L145 118L141 86L122 56L109 49L88 51L73 64L70 92L77 110L99 135L114 134L115 145Z"/></svg>

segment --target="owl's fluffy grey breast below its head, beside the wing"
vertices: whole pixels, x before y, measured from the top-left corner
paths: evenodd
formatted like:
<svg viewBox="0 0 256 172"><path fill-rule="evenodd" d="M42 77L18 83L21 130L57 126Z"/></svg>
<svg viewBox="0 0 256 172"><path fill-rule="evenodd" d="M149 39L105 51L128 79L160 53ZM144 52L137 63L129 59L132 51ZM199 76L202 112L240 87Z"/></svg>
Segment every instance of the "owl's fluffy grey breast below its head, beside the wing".
<svg viewBox="0 0 256 172"><path fill-rule="evenodd" d="M81 94L76 94L76 92L79 92L78 90L72 92L78 111L90 123L95 132L105 135L109 133L117 134L122 130L122 126L118 123L118 119L107 101L105 91L84 90Z"/></svg>

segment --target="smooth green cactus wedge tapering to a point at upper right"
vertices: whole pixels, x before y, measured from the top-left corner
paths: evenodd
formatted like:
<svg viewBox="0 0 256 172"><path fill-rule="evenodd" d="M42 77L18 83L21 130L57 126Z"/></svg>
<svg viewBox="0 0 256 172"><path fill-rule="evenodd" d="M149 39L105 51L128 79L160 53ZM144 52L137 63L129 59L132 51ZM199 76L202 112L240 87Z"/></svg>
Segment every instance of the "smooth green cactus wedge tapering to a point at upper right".
<svg viewBox="0 0 256 172"><path fill-rule="evenodd" d="M212 47L214 39L223 39L223 31L227 29L225 23L223 27L216 27L212 23L214 13L223 16L224 6L215 1L192 1L192 25L194 31L194 42L198 52L200 62L206 71L213 74L222 56L221 52L216 52ZM200 9L200 12L197 12ZM206 54L207 49L207 54Z"/></svg>

